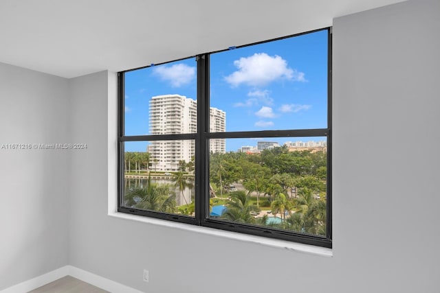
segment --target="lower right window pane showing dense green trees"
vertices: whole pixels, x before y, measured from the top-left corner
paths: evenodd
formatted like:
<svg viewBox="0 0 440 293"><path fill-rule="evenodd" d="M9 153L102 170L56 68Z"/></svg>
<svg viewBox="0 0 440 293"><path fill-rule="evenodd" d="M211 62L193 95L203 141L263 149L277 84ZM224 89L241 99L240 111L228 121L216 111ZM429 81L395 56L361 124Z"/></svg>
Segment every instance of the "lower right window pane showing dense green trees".
<svg viewBox="0 0 440 293"><path fill-rule="evenodd" d="M225 139L210 153L210 218L325 235L326 137Z"/></svg>

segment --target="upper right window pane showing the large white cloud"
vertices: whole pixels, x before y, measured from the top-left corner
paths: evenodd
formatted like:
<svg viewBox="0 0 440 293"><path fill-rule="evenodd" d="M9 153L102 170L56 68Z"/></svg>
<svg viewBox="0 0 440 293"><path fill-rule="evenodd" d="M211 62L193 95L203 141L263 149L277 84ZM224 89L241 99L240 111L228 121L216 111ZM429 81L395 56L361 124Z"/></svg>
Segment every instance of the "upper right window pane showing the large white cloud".
<svg viewBox="0 0 440 293"><path fill-rule="evenodd" d="M210 106L226 131L327 128L327 30L212 54Z"/></svg>

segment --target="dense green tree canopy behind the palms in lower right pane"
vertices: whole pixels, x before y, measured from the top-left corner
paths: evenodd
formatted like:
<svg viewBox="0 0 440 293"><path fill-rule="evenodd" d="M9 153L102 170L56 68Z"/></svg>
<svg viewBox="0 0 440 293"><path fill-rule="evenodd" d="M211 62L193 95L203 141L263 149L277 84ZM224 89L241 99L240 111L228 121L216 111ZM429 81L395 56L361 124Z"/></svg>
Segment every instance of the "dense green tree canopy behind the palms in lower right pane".
<svg viewBox="0 0 440 293"><path fill-rule="evenodd" d="M245 189L256 194L257 205L262 195L291 194L294 187L308 187L316 194L325 192L326 178L325 152L289 152L286 147L280 147L263 150L261 154L210 155L210 183L220 194L224 187L241 182Z"/></svg>

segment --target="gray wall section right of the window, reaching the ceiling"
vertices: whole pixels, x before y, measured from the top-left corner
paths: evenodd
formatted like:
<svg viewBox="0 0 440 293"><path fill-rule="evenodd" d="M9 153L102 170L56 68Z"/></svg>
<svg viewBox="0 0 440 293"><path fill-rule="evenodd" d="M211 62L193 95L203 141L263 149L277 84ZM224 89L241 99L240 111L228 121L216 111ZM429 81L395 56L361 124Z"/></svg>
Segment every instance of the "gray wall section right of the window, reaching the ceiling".
<svg viewBox="0 0 440 293"><path fill-rule="evenodd" d="M333 25L333 292L439 292L440 1Z"/></svg>

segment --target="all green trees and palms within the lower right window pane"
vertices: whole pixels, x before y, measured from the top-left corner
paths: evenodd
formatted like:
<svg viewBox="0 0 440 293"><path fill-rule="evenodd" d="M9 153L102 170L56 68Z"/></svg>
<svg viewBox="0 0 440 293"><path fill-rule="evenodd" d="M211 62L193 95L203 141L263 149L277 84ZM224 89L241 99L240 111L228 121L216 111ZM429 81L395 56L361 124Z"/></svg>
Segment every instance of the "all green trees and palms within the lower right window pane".
<svg viewBox="0 0 440 293"><path fill-rule="evenodd" d="M287 230L325 235L327 154L289 152L286 147L261 154L228 152L211 154L210 183L223 187L242 183L245 191L231 194L221 218L234 222L276 226ZM256 197L256 204L252 202ZM281 223L257 219L253 212L269 207L281 215Z"/></svg>

